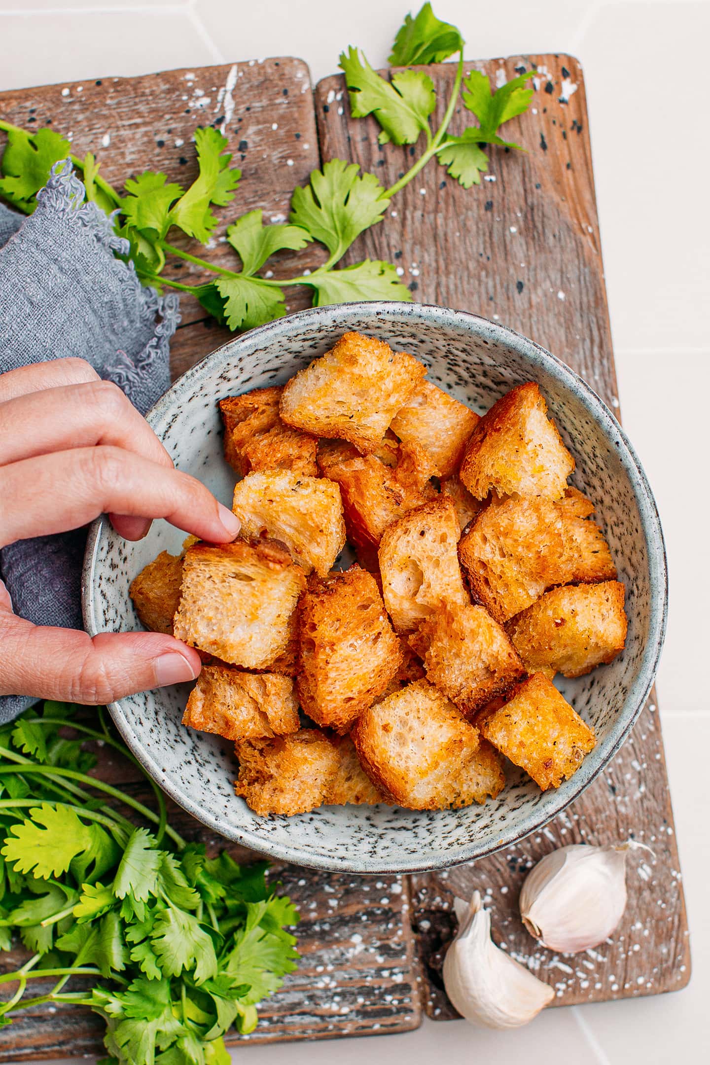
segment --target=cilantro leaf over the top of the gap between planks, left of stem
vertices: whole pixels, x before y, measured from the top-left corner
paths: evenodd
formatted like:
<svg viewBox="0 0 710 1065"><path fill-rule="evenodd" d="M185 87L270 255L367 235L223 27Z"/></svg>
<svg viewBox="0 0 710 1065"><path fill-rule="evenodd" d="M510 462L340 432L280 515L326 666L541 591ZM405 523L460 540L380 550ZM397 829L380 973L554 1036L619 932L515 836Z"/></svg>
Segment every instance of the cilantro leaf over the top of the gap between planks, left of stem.
<svg viewBox="0 0 710 1065"><path fill-rule="evenodd" d="M431 78L423 70L395 75L392 83L380 77L361 54L350 46L342 52L340 67L350 95L353 118L374 114L382 127L380 144L414 144L434 110L436 94Z"/></svg>

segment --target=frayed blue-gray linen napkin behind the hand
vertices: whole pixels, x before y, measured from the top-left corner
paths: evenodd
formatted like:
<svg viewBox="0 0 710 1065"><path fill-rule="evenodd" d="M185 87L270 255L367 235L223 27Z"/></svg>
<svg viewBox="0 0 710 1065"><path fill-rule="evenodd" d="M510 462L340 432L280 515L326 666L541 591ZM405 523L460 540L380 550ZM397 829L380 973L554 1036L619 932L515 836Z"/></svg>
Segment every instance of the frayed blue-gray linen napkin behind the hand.
<svg viewBox="0 0 710 1065"><path fill-rule="evenodd" d="M0 372L79 356L145 414L169 384L178 298L144 288L133 265L114 252L128 252L128 242L95 203L84 202L68 161L54 166L34 214L26 218L0 204ZM37 625L82 628L85 540L78 530L0 552L0 576L18 615ZM0 695L0 723L34 701L32 692Z"/></svg>

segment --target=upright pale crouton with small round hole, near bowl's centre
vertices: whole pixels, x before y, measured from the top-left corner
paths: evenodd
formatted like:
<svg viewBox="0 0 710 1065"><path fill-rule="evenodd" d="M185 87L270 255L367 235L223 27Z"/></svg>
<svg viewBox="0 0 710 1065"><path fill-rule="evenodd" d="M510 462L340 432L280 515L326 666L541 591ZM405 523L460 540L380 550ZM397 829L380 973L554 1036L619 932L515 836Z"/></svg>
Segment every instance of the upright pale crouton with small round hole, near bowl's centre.
<svg viewBox="0 0 710 1065"><path fill-rule="evenodd" d="M440 496L385 529L379 559L384 605L398 633L415 629L442 602L465 606L451 501Z"/></svg>

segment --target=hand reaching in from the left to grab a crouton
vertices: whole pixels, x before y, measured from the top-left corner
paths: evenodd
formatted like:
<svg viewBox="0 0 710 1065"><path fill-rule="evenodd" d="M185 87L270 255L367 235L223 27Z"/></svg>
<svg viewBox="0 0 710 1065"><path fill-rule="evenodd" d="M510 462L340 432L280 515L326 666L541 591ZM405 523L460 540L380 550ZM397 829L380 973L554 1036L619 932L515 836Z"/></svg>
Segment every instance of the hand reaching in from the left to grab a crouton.
<svg viewBox="0 0 710 1065"><path fill-rule="evenodd" d="M83 359L0 374L0 547L79 528L108 512L128 540L153 518L212 543L240 530L234 514L179 473L117 386ZM33 625L13 612L0 581L0 694L109 703L194 679L193 648L159 633Z"/></svg>

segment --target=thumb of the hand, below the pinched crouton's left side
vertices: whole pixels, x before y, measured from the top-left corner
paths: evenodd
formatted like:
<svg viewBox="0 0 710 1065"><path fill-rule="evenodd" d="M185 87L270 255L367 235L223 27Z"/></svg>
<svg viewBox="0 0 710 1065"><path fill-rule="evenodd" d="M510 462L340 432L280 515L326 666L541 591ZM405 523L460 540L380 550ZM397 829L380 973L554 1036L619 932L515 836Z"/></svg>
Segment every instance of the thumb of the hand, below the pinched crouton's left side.
<svg viewBox="0 0 710 1065"><path fill-rule="evenodd" d="M160 633L86 633L32 625L0 612L0 694L88 705L194 681L193 648Z"/></svg>

